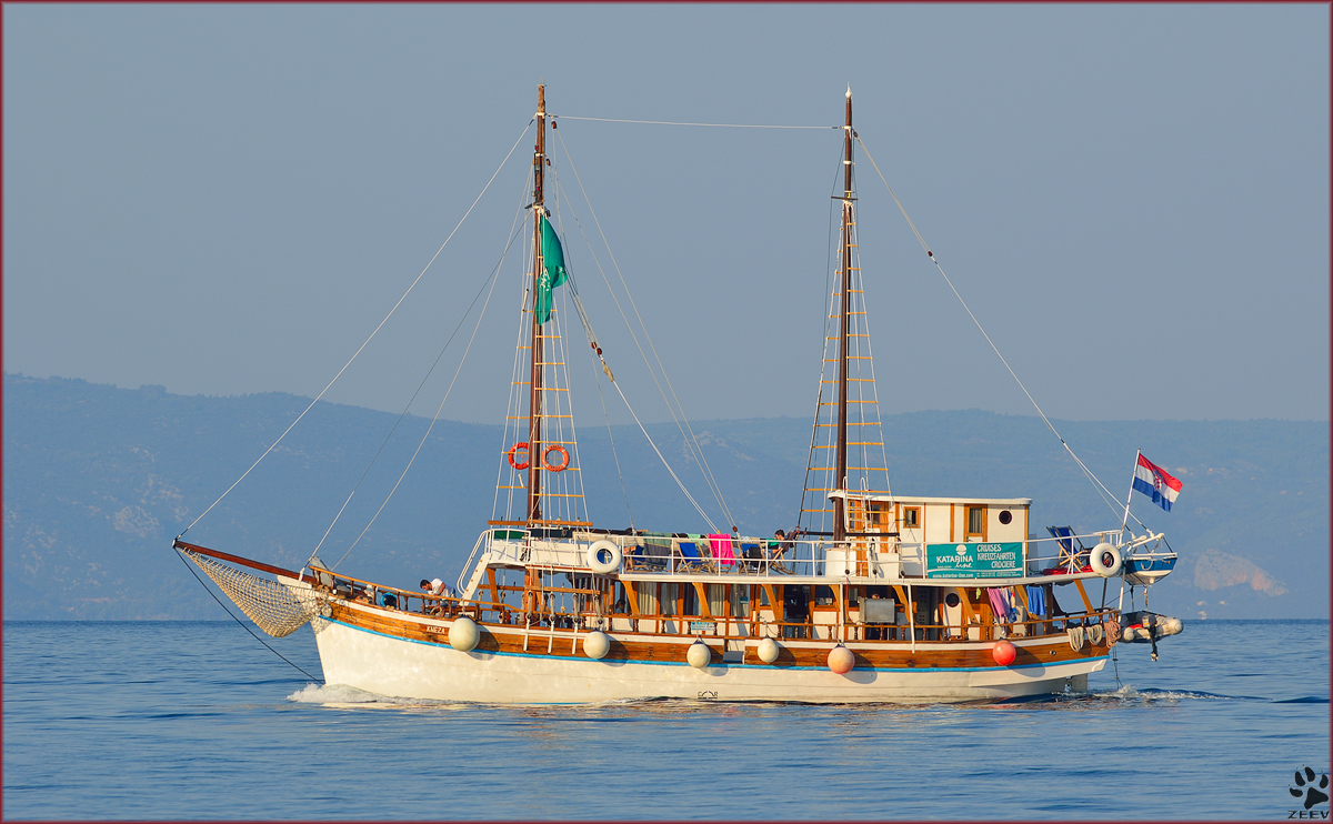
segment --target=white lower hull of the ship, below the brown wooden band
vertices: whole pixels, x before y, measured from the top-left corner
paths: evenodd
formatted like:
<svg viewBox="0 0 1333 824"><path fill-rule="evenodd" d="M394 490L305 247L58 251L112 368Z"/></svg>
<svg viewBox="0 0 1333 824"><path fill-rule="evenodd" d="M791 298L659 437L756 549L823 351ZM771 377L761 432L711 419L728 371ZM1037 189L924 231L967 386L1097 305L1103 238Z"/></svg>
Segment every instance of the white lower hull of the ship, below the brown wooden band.
<svg viewBox="0 0 1333 824"><path fill-rule="evenodd" d="M503 704L585 704L676 697L724 701L920 701L976 700L1086 689L1088 673L1106 657L1052 665L853 669L837 675L824 667L685 663L692 639L678 639L680 663L597 661L583 656L460 652L316 617L312 623L328 684L423 700ZM545 632L533 643L547 647ZM796 645L798 641L789 641ZM555 644L572 647L569 633ZM856 649L856 644L848 644ZM904 644L906 648L908 644ZM924 645L917 644L921 649ZM953 647L957 647L956 644ZM988 648L989 644L978 644Z"/></svg>

